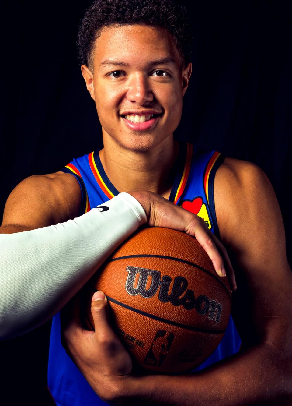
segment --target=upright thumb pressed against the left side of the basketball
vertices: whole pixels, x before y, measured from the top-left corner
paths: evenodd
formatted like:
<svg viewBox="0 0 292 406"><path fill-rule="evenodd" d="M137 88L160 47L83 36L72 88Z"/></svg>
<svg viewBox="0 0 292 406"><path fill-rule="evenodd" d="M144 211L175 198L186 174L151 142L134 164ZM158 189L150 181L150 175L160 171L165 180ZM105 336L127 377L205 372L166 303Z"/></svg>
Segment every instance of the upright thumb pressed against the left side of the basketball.
<svg viewBox="0 0 292 406"><path fill-rule="evenodd" d="M108 302L107 297L101 291L97 291L92 296L91 314L94 321L95 334L103 336L104 332L111 328L108 317Z"/></svg>

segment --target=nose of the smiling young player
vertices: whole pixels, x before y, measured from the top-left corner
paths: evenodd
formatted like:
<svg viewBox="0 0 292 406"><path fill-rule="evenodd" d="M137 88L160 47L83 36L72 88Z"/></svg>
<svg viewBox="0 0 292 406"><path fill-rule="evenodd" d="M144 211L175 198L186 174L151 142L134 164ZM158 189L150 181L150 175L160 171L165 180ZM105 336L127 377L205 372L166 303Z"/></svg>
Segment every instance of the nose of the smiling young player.
<svg viewBox="0 0 292 406"><path fill-rule="evenodd" d="M130 102L136 102L140 105L146 102L152 102L154 96L150 89L148 77L144 73L135 73L129 79L129 89L127 91L127 99Z"/></svg>

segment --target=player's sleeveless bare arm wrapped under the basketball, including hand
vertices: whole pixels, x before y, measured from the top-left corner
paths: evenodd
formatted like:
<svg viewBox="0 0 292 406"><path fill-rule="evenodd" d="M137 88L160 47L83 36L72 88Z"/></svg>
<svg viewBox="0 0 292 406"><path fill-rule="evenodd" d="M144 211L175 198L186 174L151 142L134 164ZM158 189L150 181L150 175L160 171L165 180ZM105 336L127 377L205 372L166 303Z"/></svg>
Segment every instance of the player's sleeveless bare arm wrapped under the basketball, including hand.
<svg viewBox="0 0 292 406"><path fill-rule="evenodd" d="M107 402L292 404L292 273L275 193L257 166L227 159L215 177L215 207L221 239L236 261L232 312L242 350L196 374L134 376L107 321L106 299L93 301L96 333L73 323L64 335L71 357Z"/></svg>

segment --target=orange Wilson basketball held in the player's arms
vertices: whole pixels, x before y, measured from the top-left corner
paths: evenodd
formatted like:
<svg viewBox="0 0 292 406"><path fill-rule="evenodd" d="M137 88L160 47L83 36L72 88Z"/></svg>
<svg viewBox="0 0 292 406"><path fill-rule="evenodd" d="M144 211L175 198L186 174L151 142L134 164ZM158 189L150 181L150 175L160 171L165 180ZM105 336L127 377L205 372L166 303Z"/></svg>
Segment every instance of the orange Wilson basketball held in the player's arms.
<svg viewBox="0 0 292 406"><path fill-rule="evenodd" d="M126 240L83 289L82 321L94 330L92 294L107 296L116 332L134 365L178 373L200 365L228 325L231 292L198 241L149 227Z"/></svg>

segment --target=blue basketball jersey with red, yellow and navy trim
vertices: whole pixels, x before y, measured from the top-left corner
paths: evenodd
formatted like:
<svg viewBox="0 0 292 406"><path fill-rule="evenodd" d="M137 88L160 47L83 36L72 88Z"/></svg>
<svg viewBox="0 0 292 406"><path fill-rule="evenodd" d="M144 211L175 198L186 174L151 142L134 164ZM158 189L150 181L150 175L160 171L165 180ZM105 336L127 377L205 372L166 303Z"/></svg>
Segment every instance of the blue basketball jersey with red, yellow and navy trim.
<svg viewBox="0 0 292 406"><path fill-rule="evenodd" d="M191 144L180 143L174 164L176 175L169 197L170 201L202 217L217 237L219 230L213 185L215 173L222 162L222 156L216 151L201 151ZM63 171L73 174L79 182L82 191L80 215L119 193L103 169L99 151L74 159ZM221 343L195 371L238 352L239 348L240 338L230 316ZM60 313L54 316L52 322L48 387L58 406L105 405L62 347Z"/></svg>

